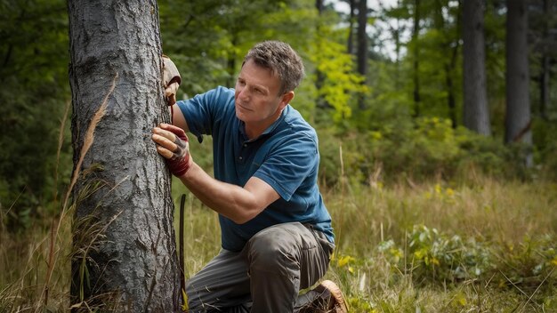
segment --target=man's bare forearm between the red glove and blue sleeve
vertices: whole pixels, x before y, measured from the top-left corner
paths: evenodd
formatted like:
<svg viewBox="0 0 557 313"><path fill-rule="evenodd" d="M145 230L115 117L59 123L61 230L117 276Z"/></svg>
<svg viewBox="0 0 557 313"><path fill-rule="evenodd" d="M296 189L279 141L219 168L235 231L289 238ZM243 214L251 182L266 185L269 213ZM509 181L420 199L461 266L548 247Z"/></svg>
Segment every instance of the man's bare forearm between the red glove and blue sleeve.
<svg viewBox="0 0 557 313"><path fill-rule="evenodd" d="M238 224L251 220L262 211L250 191L215 180L194 162L180 180L204 205Z"/></svg>

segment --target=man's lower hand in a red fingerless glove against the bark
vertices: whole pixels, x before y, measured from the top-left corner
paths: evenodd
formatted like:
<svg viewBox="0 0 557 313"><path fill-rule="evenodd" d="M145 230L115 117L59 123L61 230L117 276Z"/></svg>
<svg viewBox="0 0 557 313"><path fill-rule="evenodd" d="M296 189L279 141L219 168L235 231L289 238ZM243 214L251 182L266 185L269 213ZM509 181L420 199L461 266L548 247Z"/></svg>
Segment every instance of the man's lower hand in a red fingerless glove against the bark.
<svg viewBox="0 0 557 313"><path fill-rule="evenodd" d="M182 128L171 124L159 124L153 128L151 139L157 143L157 152L165 157L171 173L181 177L188 172L192 162L190 140Z"/></svg>

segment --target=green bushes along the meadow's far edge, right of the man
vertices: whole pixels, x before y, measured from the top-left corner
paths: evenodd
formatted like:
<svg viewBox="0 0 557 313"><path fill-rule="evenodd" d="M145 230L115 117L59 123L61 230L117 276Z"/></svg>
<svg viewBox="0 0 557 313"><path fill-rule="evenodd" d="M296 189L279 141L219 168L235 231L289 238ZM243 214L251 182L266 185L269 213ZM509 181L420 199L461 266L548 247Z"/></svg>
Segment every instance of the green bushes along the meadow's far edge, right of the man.
<svg viewBox="0 0 557 313"><path fill-rule="evenodd" d="M383 172L385 181L396 181L401 173L416 180L438 176L466 179L471 170L501 178L525 173L516 150L520 147L505 147L462 127L454 129L448 119L440 117L384 124L363 133L320 131L319 138L321 174L328 183L338 181L339 171L334 169L338 168L341 145L345 173L361 182L377 170Z"/></svg>

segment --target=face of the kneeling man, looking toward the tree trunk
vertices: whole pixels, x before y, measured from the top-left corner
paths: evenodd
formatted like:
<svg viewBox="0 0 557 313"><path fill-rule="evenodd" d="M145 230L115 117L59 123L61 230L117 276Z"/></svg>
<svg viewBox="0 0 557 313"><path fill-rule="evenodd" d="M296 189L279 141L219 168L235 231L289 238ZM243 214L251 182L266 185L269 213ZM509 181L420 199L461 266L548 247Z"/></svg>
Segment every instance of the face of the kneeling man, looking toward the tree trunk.
<svg viewBox="0 0 557 313"><path fill-rule="evenodd" d="M267 127L274 122L292 97L278 94L280 80L269 68L262 68L248 60L240 70L236 82L236 116L246 126ZM294 92L292 92L294 95Z"/></svg>

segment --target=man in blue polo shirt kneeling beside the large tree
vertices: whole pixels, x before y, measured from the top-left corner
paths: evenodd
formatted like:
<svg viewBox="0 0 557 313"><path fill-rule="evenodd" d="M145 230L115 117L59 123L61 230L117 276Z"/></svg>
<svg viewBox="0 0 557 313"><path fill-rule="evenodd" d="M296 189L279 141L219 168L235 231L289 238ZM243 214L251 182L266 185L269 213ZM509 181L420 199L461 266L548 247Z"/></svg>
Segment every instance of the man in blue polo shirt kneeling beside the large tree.
<svg viewBox="0 0 557 313"><path fill-rule="evenodd" d="M166 96L180 78L165 59ZM236 87L178 101L173 124L153 129L174 175L219 213L222 250L187 284L190 312L346 312L340 289L322 282L335 247L317 185L316 132L289 103L303 79L296 52L278 41L256 44ZM192 159L184 131L214 139L214 178ZM316 310L311 310L316 311Z"/></svg>

